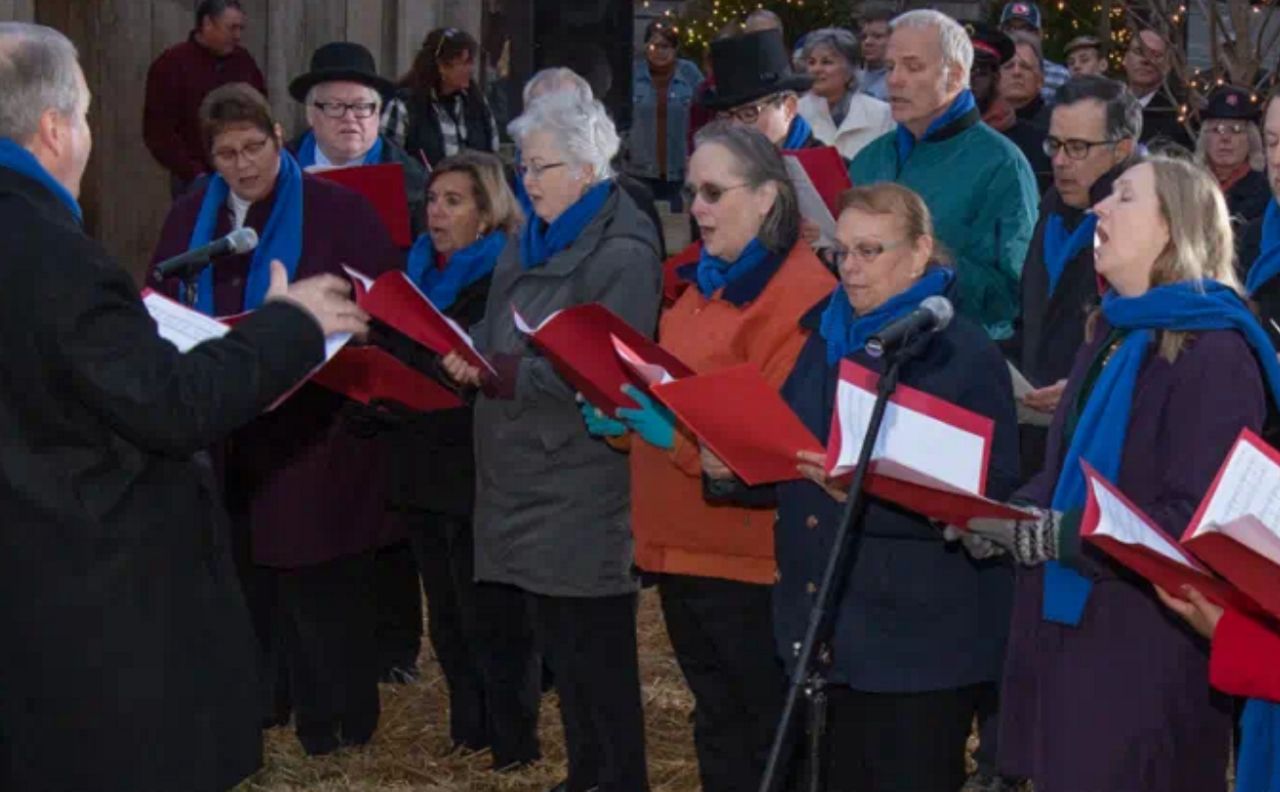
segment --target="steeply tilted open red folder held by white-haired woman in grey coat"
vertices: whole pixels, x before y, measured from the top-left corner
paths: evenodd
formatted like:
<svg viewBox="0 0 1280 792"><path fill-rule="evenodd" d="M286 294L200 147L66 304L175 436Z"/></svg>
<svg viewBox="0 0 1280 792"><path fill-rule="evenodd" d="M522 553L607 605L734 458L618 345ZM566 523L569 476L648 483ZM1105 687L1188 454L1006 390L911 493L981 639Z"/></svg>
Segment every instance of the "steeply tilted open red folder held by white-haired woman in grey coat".
<svg viewBox="0 0 1280 792"><path fill-rule="evenodd" d="M404 273L393 270L374 280L351 267L343 269L355 284L356 305L370 316L438 354L457 352L472 366L494 372L466 330L431 305Z"/></svg>

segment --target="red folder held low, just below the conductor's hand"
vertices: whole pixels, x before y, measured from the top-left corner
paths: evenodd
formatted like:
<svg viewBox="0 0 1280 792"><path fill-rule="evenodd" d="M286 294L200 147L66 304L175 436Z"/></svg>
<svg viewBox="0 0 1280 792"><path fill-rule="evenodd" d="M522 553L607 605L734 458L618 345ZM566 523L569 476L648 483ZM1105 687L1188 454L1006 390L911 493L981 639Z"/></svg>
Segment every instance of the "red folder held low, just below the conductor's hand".
<svg viewBox="0 0 1280 792"><path fill-rule="evenodd" d="M311 379L361 404L389 400L419 412L462 407L453 392L378 347L347 347Z"/></svg>

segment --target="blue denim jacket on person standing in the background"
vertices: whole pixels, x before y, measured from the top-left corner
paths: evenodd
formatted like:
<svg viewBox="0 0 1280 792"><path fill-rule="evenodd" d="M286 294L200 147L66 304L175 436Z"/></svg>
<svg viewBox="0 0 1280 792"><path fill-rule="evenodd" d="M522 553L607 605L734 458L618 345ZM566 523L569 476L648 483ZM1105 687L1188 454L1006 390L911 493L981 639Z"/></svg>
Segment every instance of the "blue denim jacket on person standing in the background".
<svg viewBox="0 0 1280 792"><path fill-rule="evenodd" d="M627 173L657 179L658 168L658 96L653 90L649 64L639 60L632 69L631 134L627 151ZM676 73L667 86L667 180L685 178L689 160L689 107L694 91L703 82L703 73L690 60L676 61Z"/></svg>

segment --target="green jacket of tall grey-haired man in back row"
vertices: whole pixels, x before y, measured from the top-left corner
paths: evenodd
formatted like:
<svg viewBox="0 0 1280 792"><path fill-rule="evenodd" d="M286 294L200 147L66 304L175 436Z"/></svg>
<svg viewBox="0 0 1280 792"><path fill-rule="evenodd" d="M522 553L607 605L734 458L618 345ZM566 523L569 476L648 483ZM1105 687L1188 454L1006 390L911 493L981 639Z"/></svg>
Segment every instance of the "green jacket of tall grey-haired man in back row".
<svg viewBox="0 0 1280 792"><path fill-rule="evenodd" d="M872 141L849 166L850 179L919 193L956 267L956 308L991 338L1009 338L1039 203L1027 157L977 110L918 142L902 165L896 141L896 131Z"/></svg>

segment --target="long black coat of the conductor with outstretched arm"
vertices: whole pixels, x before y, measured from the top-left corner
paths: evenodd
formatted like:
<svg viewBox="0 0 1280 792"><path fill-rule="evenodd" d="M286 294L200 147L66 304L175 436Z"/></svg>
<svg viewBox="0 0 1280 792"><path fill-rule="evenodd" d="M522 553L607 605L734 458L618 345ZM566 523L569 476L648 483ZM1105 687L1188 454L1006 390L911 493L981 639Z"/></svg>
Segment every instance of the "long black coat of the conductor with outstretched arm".
<svg viewBox="0 0 1280 792"><path fill-rule="evenodd" d="M261 763L253 632L197 452L320 362L319 328L269 303L179 354L5 169L0 247L0 789L227 789Z"/></svg>

